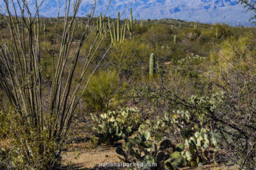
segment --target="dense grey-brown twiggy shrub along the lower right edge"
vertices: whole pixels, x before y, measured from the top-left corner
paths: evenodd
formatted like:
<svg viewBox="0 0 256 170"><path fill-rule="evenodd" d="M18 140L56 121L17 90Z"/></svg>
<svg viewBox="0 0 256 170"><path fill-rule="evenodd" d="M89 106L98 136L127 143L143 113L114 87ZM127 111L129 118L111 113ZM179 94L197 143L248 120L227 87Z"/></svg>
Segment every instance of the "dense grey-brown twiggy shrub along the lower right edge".
<svg viewBox="0 0 256 170"><path fill-rule="evenodd" d="M218 109L209 110L209 117L221 132L222 147L230 159L241 168L255 169L255 66L244 65L232 72L223 73L222 82L217 83L225 98Z"/></svg>

